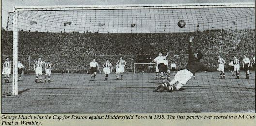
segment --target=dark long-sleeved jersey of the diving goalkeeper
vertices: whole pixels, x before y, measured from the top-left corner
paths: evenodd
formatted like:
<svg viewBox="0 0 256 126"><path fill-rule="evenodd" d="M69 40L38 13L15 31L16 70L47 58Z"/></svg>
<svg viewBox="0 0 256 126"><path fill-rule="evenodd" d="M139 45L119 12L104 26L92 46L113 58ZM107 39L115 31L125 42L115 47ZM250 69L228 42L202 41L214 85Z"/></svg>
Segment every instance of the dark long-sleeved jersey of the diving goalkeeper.
<svg viewBox="0 0 256 126"><path fill-rule="evenodd" d="M189 42L188 47L188 64L186 69L189 70L191 73L195 74L198 71L215 71L215 69L211 69L206 67L203 63L200 62L199 59L194 57L192 49L191 49L191 42Z"/></svg>

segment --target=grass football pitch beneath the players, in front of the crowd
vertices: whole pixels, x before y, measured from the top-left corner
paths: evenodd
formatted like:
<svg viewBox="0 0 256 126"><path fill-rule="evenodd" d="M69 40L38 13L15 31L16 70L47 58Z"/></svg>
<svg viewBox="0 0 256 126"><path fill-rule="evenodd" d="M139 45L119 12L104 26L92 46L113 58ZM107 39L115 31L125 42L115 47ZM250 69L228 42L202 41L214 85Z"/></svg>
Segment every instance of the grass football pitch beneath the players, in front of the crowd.
<svg viewBox="0 0 256 126"><path fill-rule="evenodd" d="M161 83L154 73L53 74L51 83L35 83L35 75L19 81L19 95L7 96L11 83L2 80L2 113L255 113L255 72L246 80L226 72L196 73L180 91L153 92ZM173 78L174 75L171 76Z"/></svg>

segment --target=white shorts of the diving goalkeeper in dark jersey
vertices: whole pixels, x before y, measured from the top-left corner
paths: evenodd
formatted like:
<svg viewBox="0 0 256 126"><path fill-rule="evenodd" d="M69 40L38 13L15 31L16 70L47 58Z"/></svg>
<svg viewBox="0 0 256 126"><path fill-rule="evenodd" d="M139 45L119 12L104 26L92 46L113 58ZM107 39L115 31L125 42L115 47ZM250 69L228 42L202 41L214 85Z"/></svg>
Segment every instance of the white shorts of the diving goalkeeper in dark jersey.
<svg viewBox="0 0 256 126"><path fill-rule="evenodd" d="M193 73L187 69L180 70L174 76L175 81L181 82L181 84L186 84L193 77Z"/></svg>

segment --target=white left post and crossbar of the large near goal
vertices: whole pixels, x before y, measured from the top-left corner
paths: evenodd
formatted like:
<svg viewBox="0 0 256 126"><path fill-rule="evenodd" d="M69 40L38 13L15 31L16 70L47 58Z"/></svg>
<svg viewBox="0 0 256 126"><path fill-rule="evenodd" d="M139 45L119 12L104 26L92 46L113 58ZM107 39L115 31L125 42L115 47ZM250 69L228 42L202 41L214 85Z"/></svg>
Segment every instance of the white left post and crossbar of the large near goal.
<svg viewBox="0 0 256 126"><path fill-rule="evenodd" d="M110 10L110 9L186 9L255 7L254 2L186 3L186 4L125 4L125 5L68 5L68 6L15 6L13 10L13 78L12 94L18 95L18 14L20 11ZM135 64L134 64L135 65ZM135 71L134 71L135 72Z"/></svg>

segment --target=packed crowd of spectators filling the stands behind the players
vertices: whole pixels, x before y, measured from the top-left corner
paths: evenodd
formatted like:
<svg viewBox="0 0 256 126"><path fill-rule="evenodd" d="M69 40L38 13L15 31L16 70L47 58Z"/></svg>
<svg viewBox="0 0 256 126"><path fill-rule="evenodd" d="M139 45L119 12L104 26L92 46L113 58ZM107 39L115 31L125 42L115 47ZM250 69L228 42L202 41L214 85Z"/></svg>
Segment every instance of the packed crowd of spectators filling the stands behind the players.
<svg viewBox="0 0 256 126"><path fill-rule="evenodd" d="M54 70L79 71L89 69L93 58L100 66L109 59L112 64L120 56L127 62L126 69L132 70L138 55L157 56L159 51L166 54L169 64L176 63L184 68L187 60L188 40L195 36L193 50L200 50L205 57L202 62L209 67L217 66L218 55L227 62L237 56L247 54L250 59L255 54L254 30L207 30L189 33L151 34L100 34L100 33L48 33L19 32L19 60L28 69L42 57L50 60ZM2 31L2 55L12 58L12 31ZM5 58L2 57L2 60ZM3 62L2 62L3 63ZM226 66L228 63L226 63Z"/></svg>

